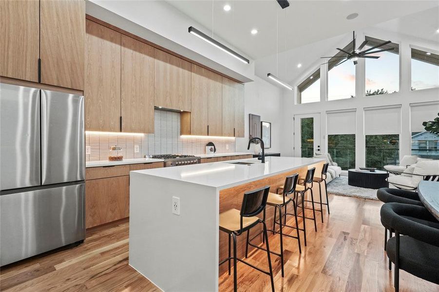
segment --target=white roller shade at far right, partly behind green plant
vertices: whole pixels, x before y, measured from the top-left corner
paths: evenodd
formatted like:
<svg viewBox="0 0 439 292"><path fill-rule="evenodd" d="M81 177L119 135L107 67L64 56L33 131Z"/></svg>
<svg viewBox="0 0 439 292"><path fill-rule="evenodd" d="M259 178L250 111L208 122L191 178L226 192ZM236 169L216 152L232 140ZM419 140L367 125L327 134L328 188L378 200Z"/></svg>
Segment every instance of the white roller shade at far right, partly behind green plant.
<svg viewBox="0 0 439 292"><path fill-rule="evenodd" d="M433 121L438 116L439 102L410 104L410 131L425 131L423 122Z"/></svg>

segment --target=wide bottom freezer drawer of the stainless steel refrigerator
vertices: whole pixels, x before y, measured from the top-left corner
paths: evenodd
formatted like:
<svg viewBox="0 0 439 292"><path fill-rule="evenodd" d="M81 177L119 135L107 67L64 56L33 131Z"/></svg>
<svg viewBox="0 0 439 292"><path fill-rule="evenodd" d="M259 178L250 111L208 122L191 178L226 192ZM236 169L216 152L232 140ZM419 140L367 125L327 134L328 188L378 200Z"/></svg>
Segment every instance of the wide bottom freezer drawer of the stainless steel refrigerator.
<svg viewBox="0 0 439 292"><path fill-rule="evenodd" d="M0 196L0 265L85 238L84 183Z"/></svg>

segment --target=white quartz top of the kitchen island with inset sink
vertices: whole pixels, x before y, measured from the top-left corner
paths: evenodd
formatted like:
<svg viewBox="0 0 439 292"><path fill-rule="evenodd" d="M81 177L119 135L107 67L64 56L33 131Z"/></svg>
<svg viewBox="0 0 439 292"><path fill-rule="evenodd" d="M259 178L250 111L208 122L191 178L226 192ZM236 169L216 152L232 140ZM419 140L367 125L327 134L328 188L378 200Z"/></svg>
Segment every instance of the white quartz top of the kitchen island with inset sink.
<svg viewBox="0 0 439 292"><path fill-rule="evenodd" d="M252 158L137 170L134 172L224 189L322 161L324 159L269 156L266 157L265 164L262 164L257 158ZM230 162L252 162L253 164L239 165L230 164Z"/></svg>

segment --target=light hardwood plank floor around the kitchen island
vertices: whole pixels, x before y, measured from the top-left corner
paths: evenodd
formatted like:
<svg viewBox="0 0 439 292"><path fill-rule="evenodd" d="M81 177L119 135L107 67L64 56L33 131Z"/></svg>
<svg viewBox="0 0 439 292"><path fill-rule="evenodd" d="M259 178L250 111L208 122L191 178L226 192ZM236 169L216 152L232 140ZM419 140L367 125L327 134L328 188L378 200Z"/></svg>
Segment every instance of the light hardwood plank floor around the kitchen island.
<svg viewBox="0 0 439 292"><path fill-rule="evenodd" d="M312 221L307 221L308 246L303 248L302 255L296 239L284 240L284 278L279 258L272 256L276 291L393 291L393 274L387 270L383 251L382 203L332 195L329 200L331 215L325 213L317 233L311 228ZM272 250L279 250L278 238L270 236ZM266 268L266 255L262 251L252 252L249 261ZM271 291L267 275L241 263L237 269L239 291ZM219 280L220 291L232 290L231 276L226 273ZM404 271L400 280L401 292L439 291L438 285ZM0 290L160 291L128 266L127 221L89 230L85 242L73 249L2 268Z"/></svg>

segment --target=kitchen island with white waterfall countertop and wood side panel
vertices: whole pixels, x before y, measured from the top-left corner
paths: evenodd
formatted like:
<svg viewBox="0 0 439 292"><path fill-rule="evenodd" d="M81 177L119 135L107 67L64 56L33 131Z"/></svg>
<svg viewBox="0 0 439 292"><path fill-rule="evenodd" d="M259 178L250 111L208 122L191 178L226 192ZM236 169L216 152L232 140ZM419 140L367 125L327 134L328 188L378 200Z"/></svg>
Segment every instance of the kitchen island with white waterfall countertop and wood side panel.
<svg viewBox="0 0 439 292"><path fill-rule="evenodd" d="M239 210L244 192L266 185L276 192L293 173L304 178L310 166L318 176L323 164L323 159L267 157L265 164L253 158L132 171L130 265L163 291L217 291L218 275L227 269L218 262L228 248L227 235L219 233L219 213ZM317 184L313 191L319 201ZM173 214L175 199L179 215ZM267 207L268 226L273 210ZM244 253L241 237L238 257Z"/></svg>

